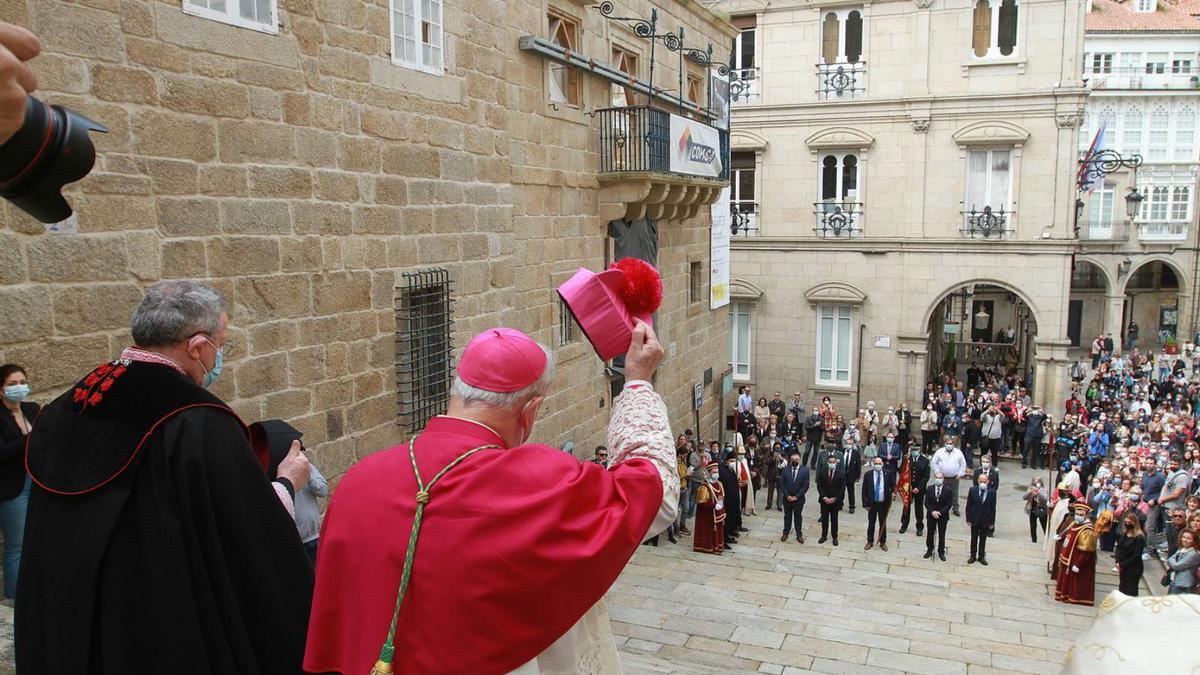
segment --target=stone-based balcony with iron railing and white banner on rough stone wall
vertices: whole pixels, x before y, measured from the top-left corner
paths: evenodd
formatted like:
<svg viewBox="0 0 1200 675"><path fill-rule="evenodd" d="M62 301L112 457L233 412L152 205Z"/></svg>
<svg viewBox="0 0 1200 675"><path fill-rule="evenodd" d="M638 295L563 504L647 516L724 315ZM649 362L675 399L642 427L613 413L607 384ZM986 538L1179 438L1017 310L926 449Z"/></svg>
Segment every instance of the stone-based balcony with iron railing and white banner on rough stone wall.
<svg viewBox="0 0 1200 675"><path fill-rule="evenodd" d="M594 117L604 217L689 219L728 185L728 131L653 106L601 108Z"/></svg>

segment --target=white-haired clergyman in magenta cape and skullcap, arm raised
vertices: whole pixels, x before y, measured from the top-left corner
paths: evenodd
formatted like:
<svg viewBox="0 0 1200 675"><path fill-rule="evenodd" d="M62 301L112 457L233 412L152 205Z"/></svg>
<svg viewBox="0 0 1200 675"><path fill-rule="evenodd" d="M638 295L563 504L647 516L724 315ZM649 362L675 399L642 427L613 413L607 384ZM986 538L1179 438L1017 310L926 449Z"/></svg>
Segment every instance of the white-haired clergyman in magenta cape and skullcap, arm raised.
<svg viewBox="0 0 1200 675"><path fill-rule="evenodd" d="M605 470L527 443L554 372L518 330L467 345L445 416L342 479L325 515L313 673L619 671L601 598L673 522L679 474L662 359L636 322Z"/></svg>

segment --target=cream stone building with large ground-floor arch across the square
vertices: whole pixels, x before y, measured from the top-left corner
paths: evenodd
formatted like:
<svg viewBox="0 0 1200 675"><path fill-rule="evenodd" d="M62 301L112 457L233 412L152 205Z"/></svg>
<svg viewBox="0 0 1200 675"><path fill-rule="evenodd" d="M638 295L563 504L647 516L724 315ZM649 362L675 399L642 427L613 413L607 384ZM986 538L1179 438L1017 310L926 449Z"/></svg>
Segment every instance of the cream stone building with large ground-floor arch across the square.
<svg viewBox="0 0 1200 675"><path fill-rule="evenodd" d="M1085 4L728 0L734 383L918 404L972 360L1061 410ZM968 345L970 342L970 345Z"/></svg>

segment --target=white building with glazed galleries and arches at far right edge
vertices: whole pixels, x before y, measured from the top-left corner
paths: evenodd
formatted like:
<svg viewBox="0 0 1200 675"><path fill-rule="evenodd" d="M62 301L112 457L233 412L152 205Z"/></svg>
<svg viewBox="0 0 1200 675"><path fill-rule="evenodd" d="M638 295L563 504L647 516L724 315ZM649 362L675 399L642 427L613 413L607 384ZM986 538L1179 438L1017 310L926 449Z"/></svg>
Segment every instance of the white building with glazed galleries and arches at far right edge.
<svg viewBox="0 0 1200 675"><path fill-rule="evenodd" d="M1200 2L1093 0L1084 78L1091 96L1080 153L1098 145L1138 155L1136 172L1096 181L1080 211L1070 339L1139 327L1136 346L1193 340L1196 307L1196 187L1200 178ZM1129 217L1130 189L1142 197ZM1118 340L1120 341L1120 340Z"/></svg>

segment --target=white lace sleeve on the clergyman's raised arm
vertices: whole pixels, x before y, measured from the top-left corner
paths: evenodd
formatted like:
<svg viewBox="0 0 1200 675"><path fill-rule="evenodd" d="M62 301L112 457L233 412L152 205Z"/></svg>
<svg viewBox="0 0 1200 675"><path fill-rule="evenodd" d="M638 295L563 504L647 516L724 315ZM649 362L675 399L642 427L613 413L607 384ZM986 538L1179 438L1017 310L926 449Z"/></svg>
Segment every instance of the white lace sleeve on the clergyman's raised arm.
<svg viewBox="0 0 1200 675"><path fill-rule="evenodd" d="M608 424L610 471L635 458L649 460L662 478L662 504L647 537L667 528L678 516L679 468L676 466L671 419L662 399L649 387L625 389L612 406Z"/></svg>

